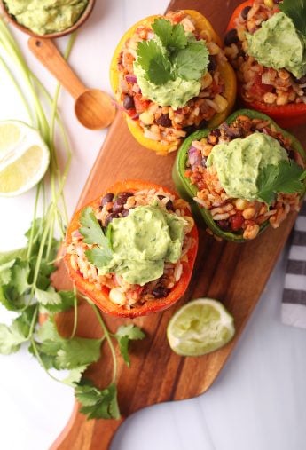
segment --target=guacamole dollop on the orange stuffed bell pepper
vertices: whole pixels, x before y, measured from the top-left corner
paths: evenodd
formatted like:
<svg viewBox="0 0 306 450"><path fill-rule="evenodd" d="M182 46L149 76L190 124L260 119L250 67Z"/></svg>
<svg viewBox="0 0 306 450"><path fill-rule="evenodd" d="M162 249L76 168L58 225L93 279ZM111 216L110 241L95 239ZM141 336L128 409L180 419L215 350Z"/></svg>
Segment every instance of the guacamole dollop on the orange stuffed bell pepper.
<svg viewBox="0 0 306 450"><path fill-rule="evenodd" d="M186 221L158 206L138 206L129 216L114 218L111 242L114 256L98 268L99 274L115 272L130 284L157 280L164 263L177 263L181 256Z"/></svg>

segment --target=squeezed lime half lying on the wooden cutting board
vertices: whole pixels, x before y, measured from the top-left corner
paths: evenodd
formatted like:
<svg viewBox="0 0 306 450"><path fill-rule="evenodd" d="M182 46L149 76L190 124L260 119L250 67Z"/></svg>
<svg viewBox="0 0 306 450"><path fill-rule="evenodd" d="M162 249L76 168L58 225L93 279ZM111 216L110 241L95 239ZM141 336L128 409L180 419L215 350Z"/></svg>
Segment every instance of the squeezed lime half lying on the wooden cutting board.
<svg viewBox="0 0 306 450"><path fill-rule="evenodd" d="M173 351L200 356L223 347L235 334L233 318L224 305L211 298L184 304L169 321L167 337Z"/></svg>

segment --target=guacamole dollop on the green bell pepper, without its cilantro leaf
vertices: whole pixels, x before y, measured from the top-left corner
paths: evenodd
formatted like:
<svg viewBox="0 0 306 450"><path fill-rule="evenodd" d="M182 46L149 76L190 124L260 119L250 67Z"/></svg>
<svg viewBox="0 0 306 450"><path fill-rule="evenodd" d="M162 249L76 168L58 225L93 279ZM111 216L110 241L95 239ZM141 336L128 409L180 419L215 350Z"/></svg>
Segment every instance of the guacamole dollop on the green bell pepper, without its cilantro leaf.
<svg viewBox="0 0 306 450"><path fill-rule="evenodd" d="M247 138L236 138L218 144L208 156L207 166L214 166L221 186L233 198L261 200L256 181L266 166L288 161L286 150L279 141L255 132Z"/></svg>

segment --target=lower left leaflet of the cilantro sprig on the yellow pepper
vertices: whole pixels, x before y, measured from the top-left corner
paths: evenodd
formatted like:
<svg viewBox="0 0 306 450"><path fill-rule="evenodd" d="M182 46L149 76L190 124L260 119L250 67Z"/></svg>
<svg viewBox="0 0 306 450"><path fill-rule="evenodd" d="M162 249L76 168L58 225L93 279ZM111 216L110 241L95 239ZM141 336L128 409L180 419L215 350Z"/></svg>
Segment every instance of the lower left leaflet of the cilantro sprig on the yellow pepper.
<svg viewBox="0 0 306 450"><path fill-rule="evenodd" d="M172 79L169 60L153 40L137 44L137 64L145 70L148 80L154 84L165 84Z"/></svg>

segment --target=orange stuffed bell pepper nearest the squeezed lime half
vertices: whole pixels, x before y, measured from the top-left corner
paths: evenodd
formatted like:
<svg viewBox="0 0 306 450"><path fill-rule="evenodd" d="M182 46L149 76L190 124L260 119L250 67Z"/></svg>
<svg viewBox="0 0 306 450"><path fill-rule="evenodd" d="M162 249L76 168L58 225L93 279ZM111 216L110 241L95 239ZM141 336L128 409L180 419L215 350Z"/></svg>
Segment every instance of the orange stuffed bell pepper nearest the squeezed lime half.
<svg viewBox="0 0 306 450"><path fill-rule="evenodd" d="M164 187L131 180L75 213L65 259L83 295L103 312L133 318L184 295L197 249L189 204Z"/></svg>

